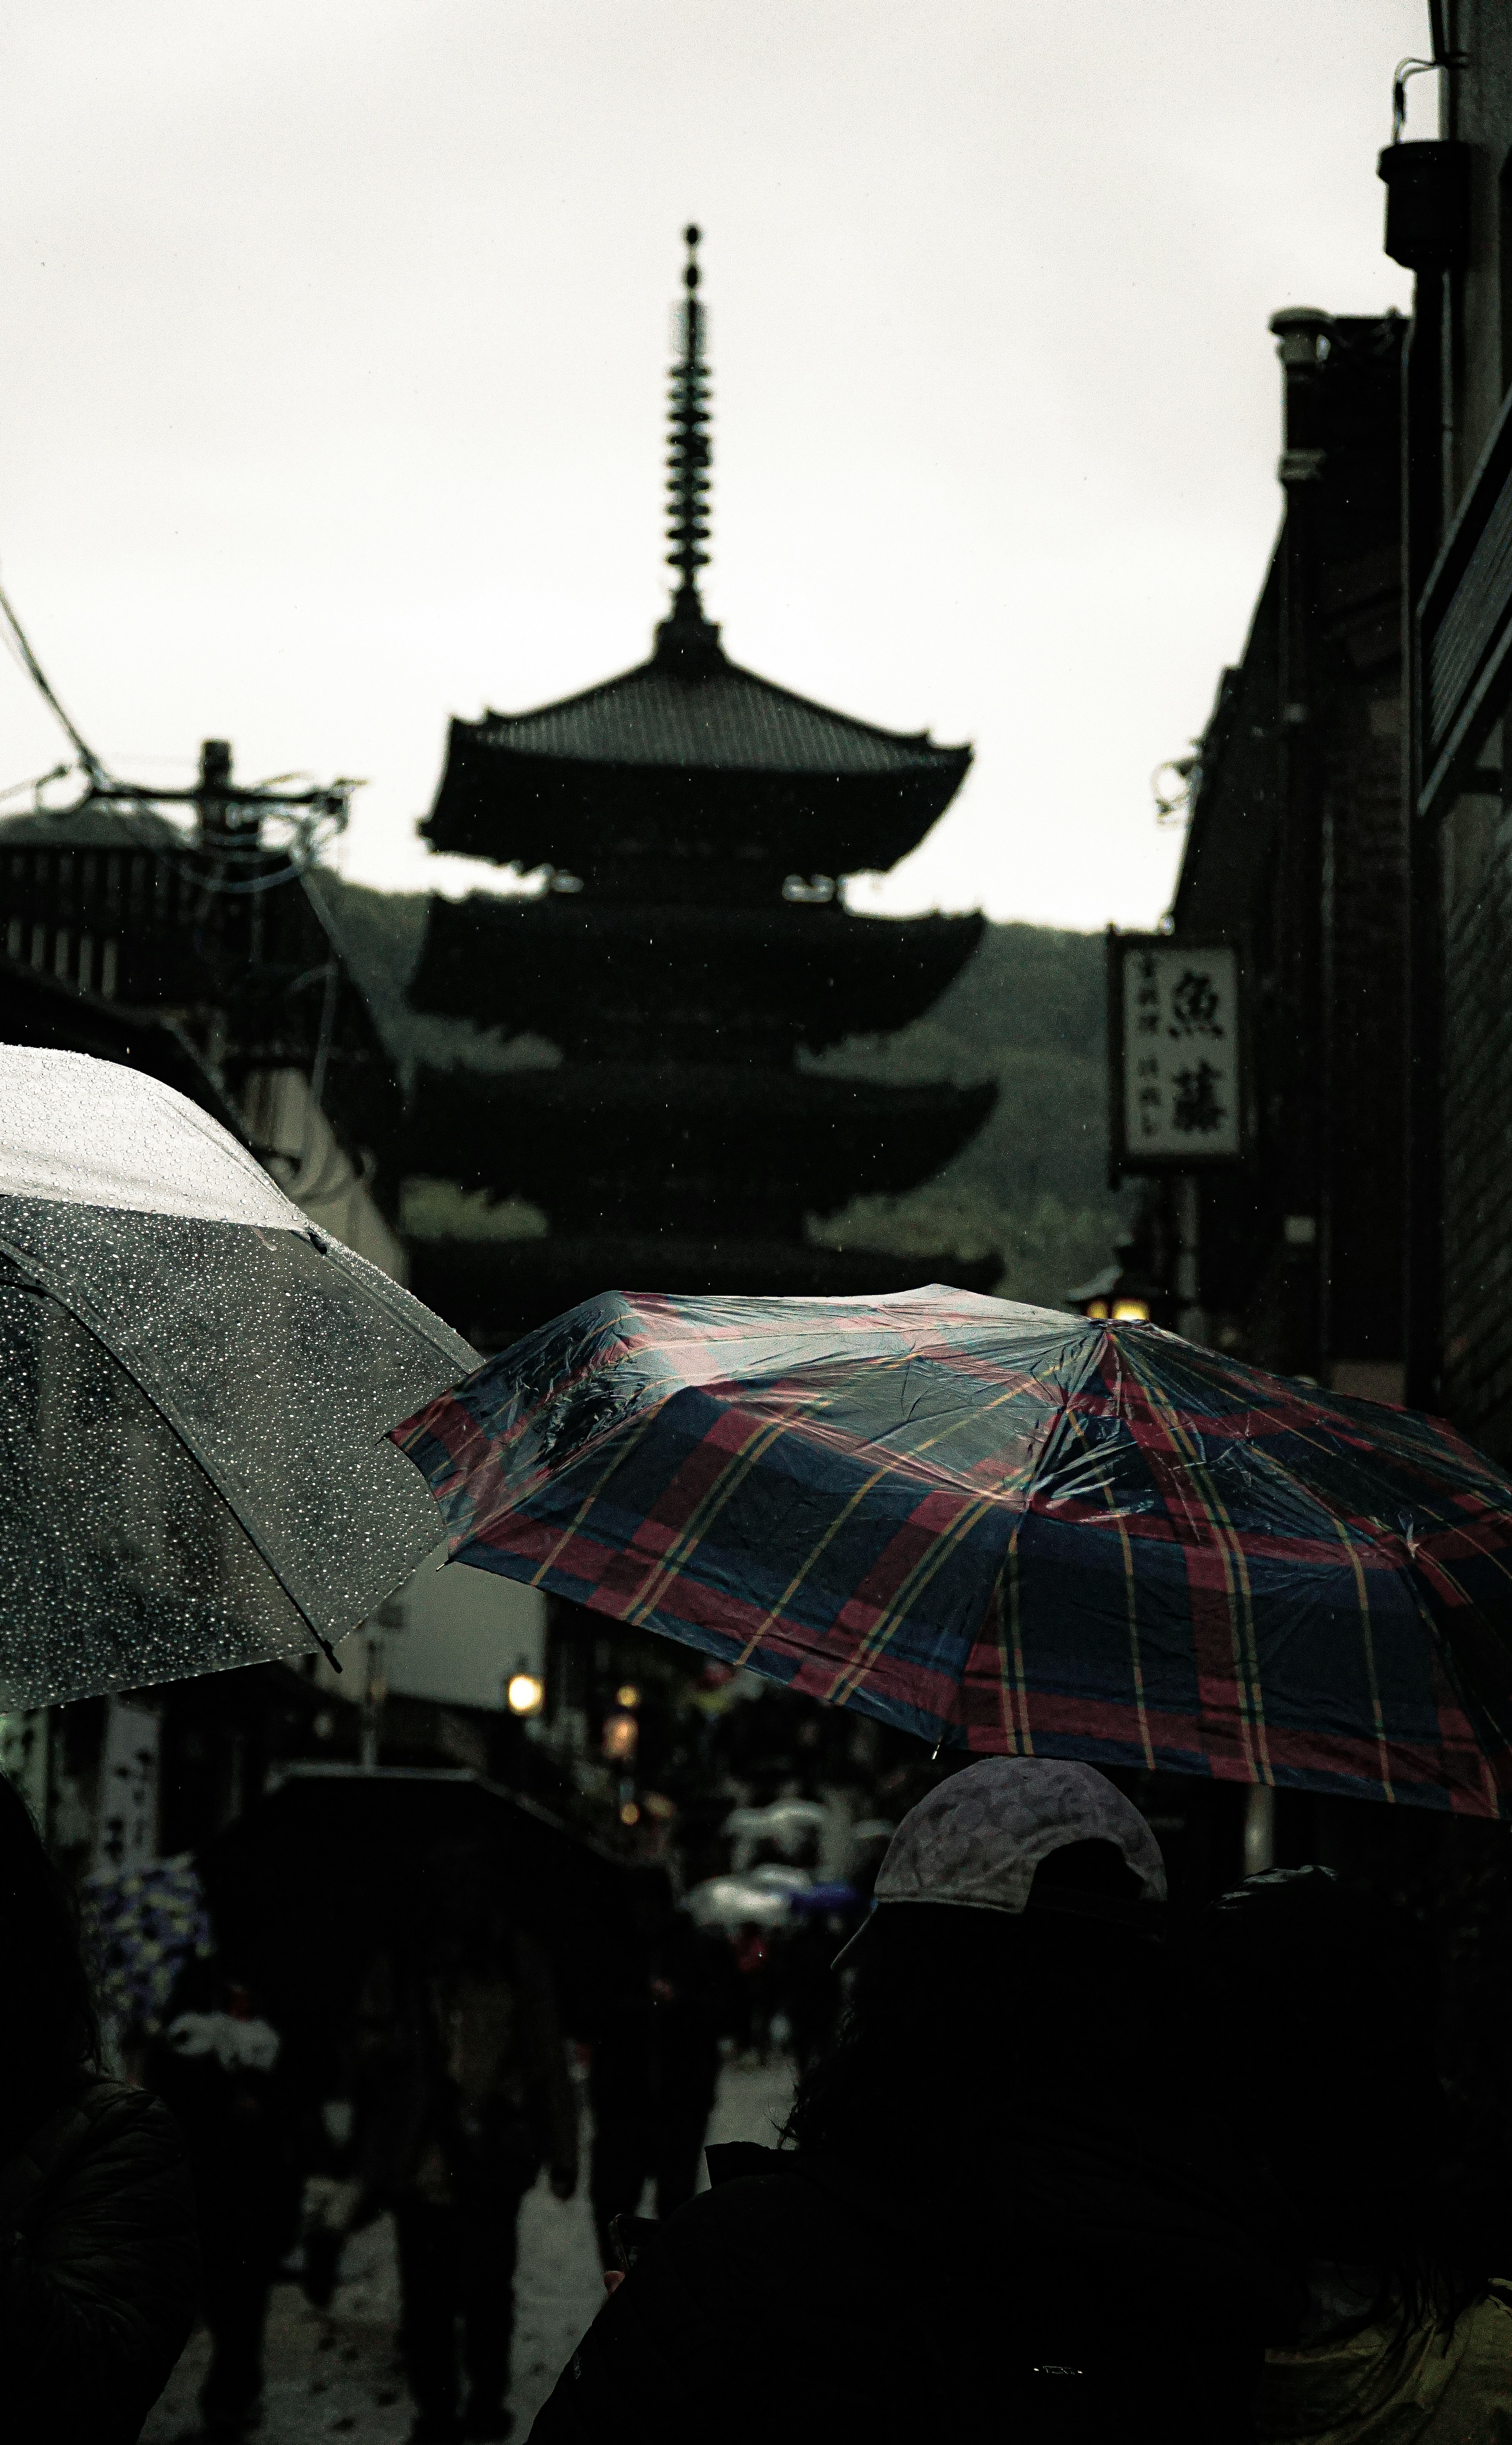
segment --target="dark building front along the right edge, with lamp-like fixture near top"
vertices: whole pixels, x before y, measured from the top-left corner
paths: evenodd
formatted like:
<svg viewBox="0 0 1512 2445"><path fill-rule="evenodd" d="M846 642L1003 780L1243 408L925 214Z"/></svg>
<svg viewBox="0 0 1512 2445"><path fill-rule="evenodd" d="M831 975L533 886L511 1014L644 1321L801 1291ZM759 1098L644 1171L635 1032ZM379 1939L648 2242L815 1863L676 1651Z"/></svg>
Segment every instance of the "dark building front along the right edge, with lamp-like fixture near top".
<svg viewBox="0 0 1512 2445"><path fill-rule="evenodd" d="M1512 1462L1512 20L1431 17L1439 139L1383 156L1417 274L1409 1391Z"/></svg>

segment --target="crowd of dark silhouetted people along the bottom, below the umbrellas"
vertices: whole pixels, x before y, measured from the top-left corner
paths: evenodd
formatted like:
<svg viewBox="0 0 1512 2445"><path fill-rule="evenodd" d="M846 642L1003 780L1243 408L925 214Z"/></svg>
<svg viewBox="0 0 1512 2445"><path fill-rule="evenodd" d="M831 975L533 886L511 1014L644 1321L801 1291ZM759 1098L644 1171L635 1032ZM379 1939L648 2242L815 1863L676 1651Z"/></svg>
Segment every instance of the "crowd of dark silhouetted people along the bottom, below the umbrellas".
<svg viewBox="0 0 1512 2445"><path fill-rule="evenodd" d="M195 2311L205 2435L247 2435L313 2166L315 2296L393 2218L415 2440L508 2435L542 2171L559 2198L586 2174L606 2303L537 2445L1512 2438L1500 2132L1444 2081L1412 1919L1326 1868L1175 1917L1148 1822L1087 1765L948 1775L840 1963L821 1919L794 1934L787 2130L708 2149L703 2191L750 1968L660 1866L576 2007L586 2169L550 1949L479 1861L369 1961L340 2130L327 2066L230 1951L183 1966L139 2083L100 2073L71 1897L5 1785L0 1934L17 2440L127 2445Z"/></svg>

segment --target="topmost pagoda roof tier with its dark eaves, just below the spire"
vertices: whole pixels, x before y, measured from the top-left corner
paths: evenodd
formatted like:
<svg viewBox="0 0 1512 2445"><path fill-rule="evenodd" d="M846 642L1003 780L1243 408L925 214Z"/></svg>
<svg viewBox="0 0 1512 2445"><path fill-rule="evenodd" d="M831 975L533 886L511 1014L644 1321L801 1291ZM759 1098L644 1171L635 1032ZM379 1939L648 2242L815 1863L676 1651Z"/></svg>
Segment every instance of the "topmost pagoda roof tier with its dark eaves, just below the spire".
<svg viewBox="0 0 1512 2445"><path fill-rule="evenodd" d="M730 663L681 650L530 714L452 721L420 826L437 851L498 866L596 870L674 856L689 839L782 873L896 866L972 760L926 731L835 714Z"/></svg>

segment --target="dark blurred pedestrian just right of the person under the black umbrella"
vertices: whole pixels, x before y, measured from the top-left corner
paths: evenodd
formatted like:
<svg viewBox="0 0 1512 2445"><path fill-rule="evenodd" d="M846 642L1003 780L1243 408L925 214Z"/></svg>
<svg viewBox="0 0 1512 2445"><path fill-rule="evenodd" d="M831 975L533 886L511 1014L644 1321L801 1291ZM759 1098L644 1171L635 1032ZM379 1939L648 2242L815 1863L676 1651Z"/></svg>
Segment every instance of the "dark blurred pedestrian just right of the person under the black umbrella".
<svg viewBox="0 0 1512 2445"><path fill-rule="evenodd" d="M723 1936L677 1910L664 1868L638 1868L594 2020L589 2196L598 2252L608 2227L655 2183L657 2215L694 2196L718 2088L721 2037L740 2024L740 1980Z"/></svg>

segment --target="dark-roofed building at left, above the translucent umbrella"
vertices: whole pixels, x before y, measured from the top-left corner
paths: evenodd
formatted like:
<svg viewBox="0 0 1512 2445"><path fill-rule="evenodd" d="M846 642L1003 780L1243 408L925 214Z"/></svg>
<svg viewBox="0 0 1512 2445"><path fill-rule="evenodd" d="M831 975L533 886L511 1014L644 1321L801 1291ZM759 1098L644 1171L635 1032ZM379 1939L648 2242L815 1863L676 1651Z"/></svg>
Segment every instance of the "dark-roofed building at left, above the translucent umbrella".
<svg viewBox="0 0 1512 2445"><path fill-rule="evenodd" d="M7 1037L169 1078L313 1220L403 1276L388 1225L398 1066L320 875L298 846L261 844L259 795L237 790L222 741L178 795L193 831L88 782L78 804L0 822Z"/></svg>

